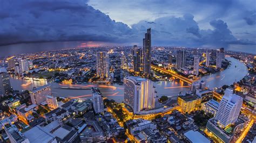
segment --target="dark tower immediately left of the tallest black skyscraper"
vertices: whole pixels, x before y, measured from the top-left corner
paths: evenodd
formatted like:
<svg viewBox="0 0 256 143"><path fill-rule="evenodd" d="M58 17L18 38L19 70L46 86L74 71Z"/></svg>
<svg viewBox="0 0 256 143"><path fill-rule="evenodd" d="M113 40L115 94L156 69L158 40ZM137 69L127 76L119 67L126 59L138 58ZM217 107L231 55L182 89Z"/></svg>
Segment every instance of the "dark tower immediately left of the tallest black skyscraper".
<svg viewBox="0 0 256 143"><path fill-rule="evenodd" d="M139 72L142 68L142 48L138 48L136 45L133 46L132 59L134 72Z"/></svg>

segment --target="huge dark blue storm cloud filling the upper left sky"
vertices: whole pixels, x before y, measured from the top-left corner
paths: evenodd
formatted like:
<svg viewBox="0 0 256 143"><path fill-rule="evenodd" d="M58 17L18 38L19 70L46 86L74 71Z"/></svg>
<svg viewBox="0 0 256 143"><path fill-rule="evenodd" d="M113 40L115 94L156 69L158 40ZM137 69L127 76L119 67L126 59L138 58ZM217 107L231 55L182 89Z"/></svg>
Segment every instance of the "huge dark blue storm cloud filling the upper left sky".
<svg viewBox="0 0 256 143"><path fill-rule="evenodd" d="M86 1L1 1L0 45L35 41L126 42L132 30Z"/></svg>

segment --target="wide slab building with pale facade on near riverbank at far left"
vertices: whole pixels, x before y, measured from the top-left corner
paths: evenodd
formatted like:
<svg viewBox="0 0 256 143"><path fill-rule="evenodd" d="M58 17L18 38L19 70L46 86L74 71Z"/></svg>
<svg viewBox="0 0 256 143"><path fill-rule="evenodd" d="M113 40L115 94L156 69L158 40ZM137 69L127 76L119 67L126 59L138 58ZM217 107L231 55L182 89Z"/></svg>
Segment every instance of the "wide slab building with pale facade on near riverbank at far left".
<svg viewBox="0 0 256 143"><path fill-rule="evenodd" d="M30 91L32 104L39 105L46 101L46 96L52 95L50 85L44 85Z"/></svg>

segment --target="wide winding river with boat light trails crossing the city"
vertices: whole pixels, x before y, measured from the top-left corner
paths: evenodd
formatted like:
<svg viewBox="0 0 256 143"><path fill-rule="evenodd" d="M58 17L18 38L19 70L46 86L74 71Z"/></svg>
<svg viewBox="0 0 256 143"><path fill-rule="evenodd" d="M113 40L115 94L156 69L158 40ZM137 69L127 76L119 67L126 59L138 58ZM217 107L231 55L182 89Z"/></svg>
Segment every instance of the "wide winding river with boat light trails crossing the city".
<svg viewBox="0 0 256 143"><path fill-rule="evenodd" d="M240 62L234 58L226 58L231 61L231 66L224 71L219 73L207 75L201 78L201 80L206 80L207 87L221 87L224 84L230 85L235 80L241 80L247 74L247 68L244 63ZM237 67L235 67L237 66ZM114 99L117 102L122 102L124 99L124 85L119 84L59 84L56 82L46 82L46 81L32 81L32 80L21 80L14 77L10 78L12 87L15 90L32 90L33 87L40 87L45 84L50 84L52 89L52 94L60 97L70 97L70 98L91 98L91 90L78 90L78 89L62 89L61 87L98 87L102 92L103 96L108 99ZM31 84L27 86L22 86L24 83ZM190 90L190 85L183 86L183 83L178 81L158 81L154 82L156 87L157 96L177 96L180 91Z"/></svg>

